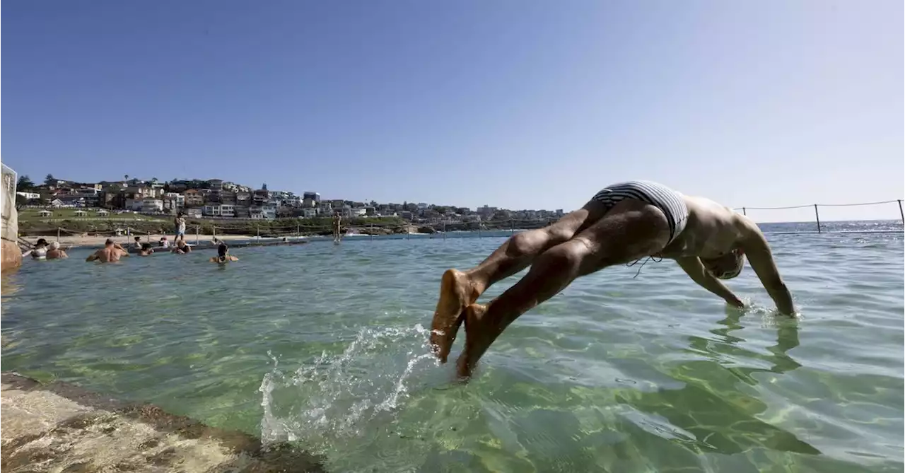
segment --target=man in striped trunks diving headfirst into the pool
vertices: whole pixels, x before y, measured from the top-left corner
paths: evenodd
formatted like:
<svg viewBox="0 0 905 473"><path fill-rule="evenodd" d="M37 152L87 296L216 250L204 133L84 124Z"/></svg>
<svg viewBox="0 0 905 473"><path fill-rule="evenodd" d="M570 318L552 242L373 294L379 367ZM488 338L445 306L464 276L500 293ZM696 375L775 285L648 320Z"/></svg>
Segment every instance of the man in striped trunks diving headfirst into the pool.
<svg viewBox="0 0 905 473"><path fill-rule="evenodd" d="M613 184L546 228L510 237L471 270L446 270L433 313L431 345L446 362L459 326L465 347L456 363L465 378L516 318L576 278L646 257L675 260L703 289L743 307L721 279L738 276L748 256L778 311L795 307L757 223L732 209L650 181ZM486 305L475 301L493 283L530 266L524 278Z"/></svg>

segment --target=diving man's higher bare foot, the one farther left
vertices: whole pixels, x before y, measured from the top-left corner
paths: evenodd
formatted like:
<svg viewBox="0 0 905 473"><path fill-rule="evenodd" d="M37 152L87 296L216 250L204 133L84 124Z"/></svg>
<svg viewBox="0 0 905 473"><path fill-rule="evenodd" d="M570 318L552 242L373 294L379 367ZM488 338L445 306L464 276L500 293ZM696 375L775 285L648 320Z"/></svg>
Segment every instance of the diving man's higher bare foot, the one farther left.
<svg viewBox="0 0 905 473"><path fill-rule="evenodd" d="M431 345L433 353L446 363L455 334L462 325L465 307L477 300L472 279L460 270L446 270L440 283L440 300L433 311ZM442 334L438 333L442 332Z"/></svg>

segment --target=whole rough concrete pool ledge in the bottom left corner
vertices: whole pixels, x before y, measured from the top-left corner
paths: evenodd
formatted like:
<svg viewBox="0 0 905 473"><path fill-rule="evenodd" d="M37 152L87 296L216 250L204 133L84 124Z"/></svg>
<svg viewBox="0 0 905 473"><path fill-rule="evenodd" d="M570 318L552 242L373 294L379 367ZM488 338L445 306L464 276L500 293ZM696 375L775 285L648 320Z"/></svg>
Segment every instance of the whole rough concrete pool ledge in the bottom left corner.
<svg viewBox="0 0 905 473"><path fill-rule="evenodd" d="M208 427L150 404L0 373L0 473L325 471L289 446Z"/></svg>

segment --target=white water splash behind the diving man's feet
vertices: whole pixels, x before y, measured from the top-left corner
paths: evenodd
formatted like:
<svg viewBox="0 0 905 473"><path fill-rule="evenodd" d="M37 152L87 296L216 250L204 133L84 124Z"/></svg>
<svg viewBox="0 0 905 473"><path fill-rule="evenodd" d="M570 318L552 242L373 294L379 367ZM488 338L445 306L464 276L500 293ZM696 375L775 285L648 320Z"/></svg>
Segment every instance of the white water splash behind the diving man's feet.
<svg viewBox="0 0 905 473"><path fill-rule="evenodd" d="M291 373L268 352L273 366L259 388L262 440L326 453L393 421L416 374L437 364L428 332L420 324L363 328L341 353L324 351Z"/></svg>

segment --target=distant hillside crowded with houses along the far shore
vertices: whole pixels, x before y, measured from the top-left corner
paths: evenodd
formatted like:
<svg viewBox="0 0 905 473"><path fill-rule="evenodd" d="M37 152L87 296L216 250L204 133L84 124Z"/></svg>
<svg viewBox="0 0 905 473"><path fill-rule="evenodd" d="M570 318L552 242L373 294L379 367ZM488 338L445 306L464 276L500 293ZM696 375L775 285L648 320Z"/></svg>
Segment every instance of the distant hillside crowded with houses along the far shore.
<svg viewBox="0 0 905 473"><path fill-rule="evenodd" d="M410 222L486 222L492 220L548 220L562 210L510 211L483 206L476 210L428 203L355 202L321 199L313 191L295 194L275 191L262 184L258 189L221 179L161 181L124 176L120 181L79 183L47 175L43 184L28 176L19 179L16 204L40 209L38 216L51 216L55 209L74 209L76 216L107 216L110 213L173 215L185 212L196 219L274 220L311 219L341 215L344 218L399 217Z"/></svg>

